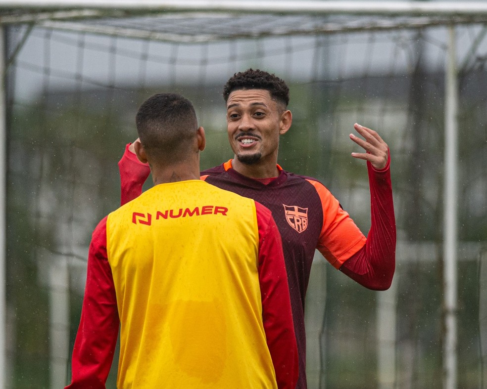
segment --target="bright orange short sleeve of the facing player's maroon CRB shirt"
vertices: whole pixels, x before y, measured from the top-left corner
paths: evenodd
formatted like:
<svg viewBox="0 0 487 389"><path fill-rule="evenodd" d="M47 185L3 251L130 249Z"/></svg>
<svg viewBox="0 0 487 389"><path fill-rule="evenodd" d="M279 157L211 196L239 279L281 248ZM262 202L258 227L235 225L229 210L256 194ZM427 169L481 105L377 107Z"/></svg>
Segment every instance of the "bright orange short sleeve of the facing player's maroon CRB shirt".
<svg viewBox="0 0 487 389"><path fill-rule="evenodd" d="M366 238L323 184L309 179L308 182L315 187L323 208L323 226L316 248L339 269L344 261L365 245Z"/></svg>

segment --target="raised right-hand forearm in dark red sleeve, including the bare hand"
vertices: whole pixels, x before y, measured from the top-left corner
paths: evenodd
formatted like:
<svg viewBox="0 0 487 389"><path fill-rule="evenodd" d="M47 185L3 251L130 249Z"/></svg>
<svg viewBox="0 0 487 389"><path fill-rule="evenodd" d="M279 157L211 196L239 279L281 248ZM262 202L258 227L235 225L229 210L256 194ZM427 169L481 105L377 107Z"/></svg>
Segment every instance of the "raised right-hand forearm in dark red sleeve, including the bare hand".
<svg viewBox="0 0 487 389"><path fill-rule="evenodd" d="M354 128L365 139L350 134L350 139L366 151L352 153L352 157L367 161L371 227L365 246L346 260L340 270L369 289L385 290L394 274L396 244L389 147L376 131L358 124Z"/></svg>

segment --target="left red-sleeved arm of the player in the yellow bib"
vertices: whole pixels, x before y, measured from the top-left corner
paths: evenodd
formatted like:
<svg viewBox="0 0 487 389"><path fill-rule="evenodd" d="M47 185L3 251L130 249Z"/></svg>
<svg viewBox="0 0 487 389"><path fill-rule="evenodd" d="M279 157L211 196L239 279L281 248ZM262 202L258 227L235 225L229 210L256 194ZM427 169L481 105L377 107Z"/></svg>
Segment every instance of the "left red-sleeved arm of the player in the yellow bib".
<svg viewBox="0 0 487 389"><path fill-rule="evenodd" d="M115 288L106 255L106 217L93 232L81 321L71 361L72 380L66 389L104 389L118 337Z"/></svg>

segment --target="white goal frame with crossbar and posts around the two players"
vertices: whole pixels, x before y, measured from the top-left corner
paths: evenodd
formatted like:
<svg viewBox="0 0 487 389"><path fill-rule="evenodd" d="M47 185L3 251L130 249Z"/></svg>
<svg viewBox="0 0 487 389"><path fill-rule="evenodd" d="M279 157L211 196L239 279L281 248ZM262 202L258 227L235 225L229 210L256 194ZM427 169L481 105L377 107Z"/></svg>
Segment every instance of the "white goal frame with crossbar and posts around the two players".
<svg viewBox="0 0 487 389"><path fill-rule="evenodd" d="M444 388L457 386L457 252L458 252L458 85L455 26L462 24L487 23L487 2L484 1L246 1L246 0L0 0L0 25L31 25L61 31L73 31L120 36L124 38L148 39L163 42L200 43L224 41L225 34L215 34L202 30L201 34L181 34L177 31L158 31L136 27L104 24L106 18L126 19L132 17L157 16L191 18L192 16L218 15L218 17L243 18L248 15L269 14L311 16L350 16L352 22L327 20L323 24L313 24L297 30L262 28L236 32L232 39L252 39L273 36L304 36L306 34L334 34L357 31L388 31L397 28L421 28L427 26L448 26L449 41L445 60L445 112L444 112ZM87 23L91 21L91 23ZM2 34L3 39L4 34ZM0 52L3 41L0 41ZM0 74L5 79L5 58L0 58ZM5 181L5 90L0 89L0 379L6 376L5 366L5 236L6 201ZM4 384L0 387L5 387Z"/></svg>

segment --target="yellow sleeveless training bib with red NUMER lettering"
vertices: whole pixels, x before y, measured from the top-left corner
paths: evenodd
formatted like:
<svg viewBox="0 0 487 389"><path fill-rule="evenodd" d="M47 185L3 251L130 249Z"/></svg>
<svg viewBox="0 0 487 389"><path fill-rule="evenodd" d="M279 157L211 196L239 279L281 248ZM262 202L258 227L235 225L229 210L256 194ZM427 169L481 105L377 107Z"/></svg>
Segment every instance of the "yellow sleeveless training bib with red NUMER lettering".
<svg viewBox="0 0 487 389"><path fill-rule="evenodd" d="M253 200L200 180L156 185L111 213L106 233L118 388L276 388Z"/></svg>

